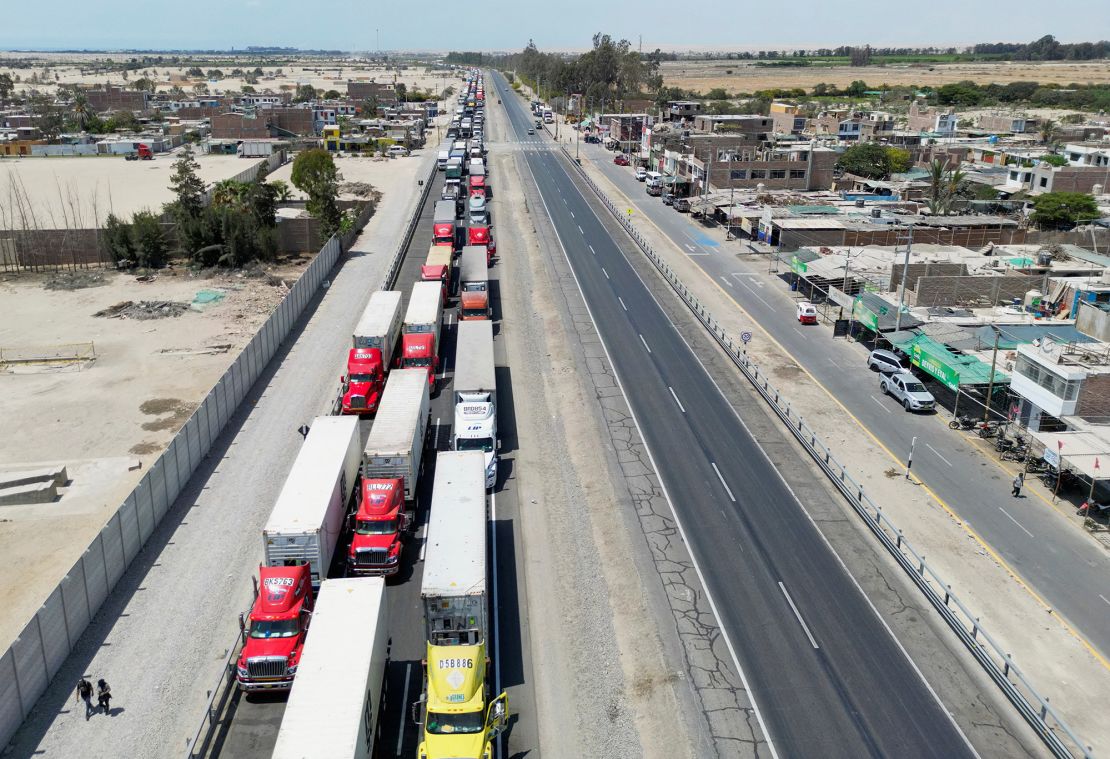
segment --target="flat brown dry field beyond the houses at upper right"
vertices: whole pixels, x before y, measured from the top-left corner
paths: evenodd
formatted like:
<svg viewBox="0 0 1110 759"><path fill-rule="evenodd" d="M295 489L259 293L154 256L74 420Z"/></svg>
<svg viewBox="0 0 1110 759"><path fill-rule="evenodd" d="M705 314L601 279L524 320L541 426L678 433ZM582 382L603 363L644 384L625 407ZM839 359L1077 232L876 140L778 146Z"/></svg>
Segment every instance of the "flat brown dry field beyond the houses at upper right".
<svg viewBox="0 0 1110 759"><path fill-rule="evenodd" d="M731 71L731 73L727 73ZM708 92L724 88L729 93L754 92L771 88L811 89L818 82L846 87L862 80L872 87L879 84L937 85L971 80L982 83L1017 81L1070 83L1108 83L1110 65L1106 61L1093 63L944 63L944 64L897 64L854 68L848 65L809 67L758 67L746 61L673 61L662 69L664 82L668 87Z"/></svg>

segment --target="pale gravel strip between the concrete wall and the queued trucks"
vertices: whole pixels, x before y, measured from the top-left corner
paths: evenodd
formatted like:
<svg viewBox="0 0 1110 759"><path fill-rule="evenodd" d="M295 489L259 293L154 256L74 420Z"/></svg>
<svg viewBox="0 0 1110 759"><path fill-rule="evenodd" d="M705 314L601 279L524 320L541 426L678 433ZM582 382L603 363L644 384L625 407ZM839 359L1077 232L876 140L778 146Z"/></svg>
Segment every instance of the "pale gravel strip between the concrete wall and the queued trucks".
<svg viewBox="0 0 1110 759"><path fill-rule="evenodd" d="M326 413L344 348L390 265L435 159L396 176L307 317L279 347L143 553L82 636L12 741L13 756L164 757L192 738L223 654L239 631L261 530L300 447L296 427ZM397 172L401 174L402 172ZM81 675L103 677L112 717L71 708Z"/></svg>

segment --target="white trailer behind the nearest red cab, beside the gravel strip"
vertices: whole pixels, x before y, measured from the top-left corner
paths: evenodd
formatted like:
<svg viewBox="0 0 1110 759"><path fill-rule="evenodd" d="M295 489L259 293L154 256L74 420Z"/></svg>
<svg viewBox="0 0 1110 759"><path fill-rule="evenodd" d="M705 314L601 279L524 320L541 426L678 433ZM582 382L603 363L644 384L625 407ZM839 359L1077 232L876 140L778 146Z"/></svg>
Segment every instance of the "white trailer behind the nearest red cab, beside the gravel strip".
<svg viewBox="0 0 1110 759"><path fill-rule="evenodd" d="M320 585L359 477L359 419L317 416L262 530L268 567L307 564Z"/></svg>

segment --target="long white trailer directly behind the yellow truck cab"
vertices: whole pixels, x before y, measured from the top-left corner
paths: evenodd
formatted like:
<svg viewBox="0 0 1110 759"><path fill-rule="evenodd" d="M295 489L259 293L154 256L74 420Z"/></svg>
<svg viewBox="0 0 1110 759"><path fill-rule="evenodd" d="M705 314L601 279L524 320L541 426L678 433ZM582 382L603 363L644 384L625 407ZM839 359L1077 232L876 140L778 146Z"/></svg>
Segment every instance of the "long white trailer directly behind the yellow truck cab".
<svg viewBox="0 0 1110 759"><path fill-rule="evenodd" d="M478 451L435 458L421 601L433 646L486 640L485 464Z"/></svg>

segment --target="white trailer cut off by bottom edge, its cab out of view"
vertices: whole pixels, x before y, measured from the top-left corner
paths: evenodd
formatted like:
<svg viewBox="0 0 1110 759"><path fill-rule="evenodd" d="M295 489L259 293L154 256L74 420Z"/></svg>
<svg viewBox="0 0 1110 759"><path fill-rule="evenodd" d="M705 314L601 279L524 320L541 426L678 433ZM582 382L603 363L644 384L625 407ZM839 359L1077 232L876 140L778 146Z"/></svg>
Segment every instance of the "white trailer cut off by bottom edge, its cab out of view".
<svg viewBox="0 0 1110 759"><path fill-rule="evenodd" d="M370 759L385 705L385 580L327 580L282 715L273 759Z"/></svg>

